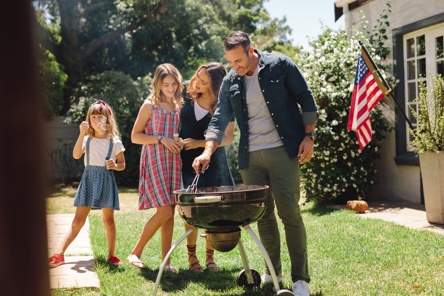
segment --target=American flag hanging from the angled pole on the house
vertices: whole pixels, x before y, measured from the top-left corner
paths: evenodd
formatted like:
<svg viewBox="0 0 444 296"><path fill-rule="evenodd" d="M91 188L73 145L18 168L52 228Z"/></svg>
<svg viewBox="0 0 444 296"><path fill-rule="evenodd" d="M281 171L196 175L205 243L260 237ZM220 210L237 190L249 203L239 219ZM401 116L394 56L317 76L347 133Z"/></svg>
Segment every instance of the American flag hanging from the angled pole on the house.
<svg viewBox="0 0 444 296"><path fill-rule="evenodd" d="M376 71L370 62L369 56L361 47L347 125L347 130L356 130L361 150L372 139L369 113L390 91L387 91L381 83Z"/></svg>

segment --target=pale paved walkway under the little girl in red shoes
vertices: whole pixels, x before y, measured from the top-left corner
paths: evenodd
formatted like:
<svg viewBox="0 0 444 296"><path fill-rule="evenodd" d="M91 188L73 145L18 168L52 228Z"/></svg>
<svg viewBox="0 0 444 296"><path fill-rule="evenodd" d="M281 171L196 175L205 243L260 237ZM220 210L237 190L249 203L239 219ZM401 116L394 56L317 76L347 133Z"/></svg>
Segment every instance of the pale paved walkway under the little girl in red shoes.
<svg viewBox="0 0 444 296"><path fill-rule="evenodd" d="M71 227L74 214L46 215L48 233L48 258L56 253L60 242ZM67 256L74 255L74 256ZM92 257L89 240L89 220L79 235L65 252L65 264L49 270L51 288L100 288L99 278L92 270L95 260Z"/></svg>

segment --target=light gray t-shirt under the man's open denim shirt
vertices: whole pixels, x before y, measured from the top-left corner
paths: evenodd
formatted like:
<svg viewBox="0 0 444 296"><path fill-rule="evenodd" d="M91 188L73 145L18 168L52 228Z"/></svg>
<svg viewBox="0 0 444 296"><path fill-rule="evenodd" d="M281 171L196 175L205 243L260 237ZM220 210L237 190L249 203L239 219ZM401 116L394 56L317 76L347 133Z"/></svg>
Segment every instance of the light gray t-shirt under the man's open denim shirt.
<svg viewBox="0 0 444 296"><path fill-rule="evenodd" d="M258 81L259 63L251 76L244 75L248 106L248 151L282 146Z"/></svg>

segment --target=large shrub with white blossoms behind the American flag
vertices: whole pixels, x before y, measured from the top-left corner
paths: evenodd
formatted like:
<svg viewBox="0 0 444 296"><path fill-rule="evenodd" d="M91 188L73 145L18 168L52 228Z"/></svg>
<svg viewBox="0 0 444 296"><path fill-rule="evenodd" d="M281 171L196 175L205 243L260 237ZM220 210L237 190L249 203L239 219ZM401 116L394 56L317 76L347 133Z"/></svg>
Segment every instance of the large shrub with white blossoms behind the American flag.
<svg viewBox="0 0 444 296"><path fill-rule="evenodd" d="M313 158L301 169L308 199L344 202L371 191L376 184L373 160L380 157L378 142L385 138L381 132L391 130L377 107L370 112L373 140L363 150L356 132L347 130L360 49L358 39L366 45L375 63L381 61L369 39L361 32L354 33L349 36L325 28L322 41L314 44L315 49L309 52L303 48L296 57L320 113ZM394 87L394 79L383 70L381 73Z"/></svg>

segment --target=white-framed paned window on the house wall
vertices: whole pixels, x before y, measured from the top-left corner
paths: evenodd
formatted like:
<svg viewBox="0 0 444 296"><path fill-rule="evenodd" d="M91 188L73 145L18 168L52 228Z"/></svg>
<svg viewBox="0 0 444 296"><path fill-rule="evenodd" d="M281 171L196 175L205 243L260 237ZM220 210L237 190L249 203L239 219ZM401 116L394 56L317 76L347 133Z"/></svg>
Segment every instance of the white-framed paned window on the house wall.
<svg viewBox="0 0 444 296"><path fill-rule="evenodd" d="M413 127L420 126L412 112L418 112L414 102L419 93L419 82L422 78L426 86L430 85L430 75L444 76L444 24L405 34L404 42L404 94L405 111ZM413 111L410 110L412 107ZM412 135L406 126L407 150L411 150Z"/></svg>

